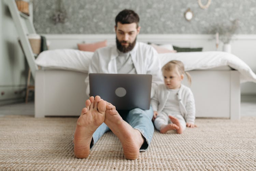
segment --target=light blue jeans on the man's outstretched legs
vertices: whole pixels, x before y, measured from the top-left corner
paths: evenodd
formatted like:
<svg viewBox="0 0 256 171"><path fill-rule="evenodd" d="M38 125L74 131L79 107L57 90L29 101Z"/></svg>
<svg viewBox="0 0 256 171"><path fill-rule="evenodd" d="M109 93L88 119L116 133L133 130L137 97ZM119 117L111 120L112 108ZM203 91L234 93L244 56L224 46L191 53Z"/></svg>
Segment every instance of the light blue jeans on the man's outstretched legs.
<svg viewBox="0 0 256 171"><path fill-rule="evenodd" d="M144 144L142 144L140 151L145 151L148 145L150 145L154 134L154 125L152 123L154 112L152 106L150 106L149 110L135 108L130 111L118 111L118 113L133 129L140 131L146 140ZM102 123L94 132L90 147L92 147L100 137L108 131L110 131L109 127L105 123Z"/></svg>

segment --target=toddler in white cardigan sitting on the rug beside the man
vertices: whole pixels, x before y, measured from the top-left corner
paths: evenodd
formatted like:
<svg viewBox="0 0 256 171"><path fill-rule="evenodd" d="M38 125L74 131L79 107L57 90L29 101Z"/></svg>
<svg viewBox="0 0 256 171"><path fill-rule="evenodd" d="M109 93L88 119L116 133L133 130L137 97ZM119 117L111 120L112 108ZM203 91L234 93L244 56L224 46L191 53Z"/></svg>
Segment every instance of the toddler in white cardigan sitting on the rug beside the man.
<svg viewBox="0 0 256 171"><path fill-rule="evenodd" d="M195 100L190 88L181 84L184 74L191 84L190 75L185 72L181 61L172 60L162 67L165 84L158 86L151 100L154 110L153 122L157 130L166 133L176 130L182 133L186 126L195 125Z"/></svg>

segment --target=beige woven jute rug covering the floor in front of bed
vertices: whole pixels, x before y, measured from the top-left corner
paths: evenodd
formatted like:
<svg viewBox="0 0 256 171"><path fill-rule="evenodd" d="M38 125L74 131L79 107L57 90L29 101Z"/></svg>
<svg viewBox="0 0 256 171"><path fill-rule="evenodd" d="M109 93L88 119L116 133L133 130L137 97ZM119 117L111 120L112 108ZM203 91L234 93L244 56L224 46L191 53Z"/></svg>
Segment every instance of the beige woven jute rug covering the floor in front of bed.
<svg viewBox="0 0 256 171"><path fill-rule="evenodd" d="M256 117L197 118L183 134L155 131L136 160L107 132L86 159L73 153L75 117L0 117L0 170L256 170Z"/></svg>

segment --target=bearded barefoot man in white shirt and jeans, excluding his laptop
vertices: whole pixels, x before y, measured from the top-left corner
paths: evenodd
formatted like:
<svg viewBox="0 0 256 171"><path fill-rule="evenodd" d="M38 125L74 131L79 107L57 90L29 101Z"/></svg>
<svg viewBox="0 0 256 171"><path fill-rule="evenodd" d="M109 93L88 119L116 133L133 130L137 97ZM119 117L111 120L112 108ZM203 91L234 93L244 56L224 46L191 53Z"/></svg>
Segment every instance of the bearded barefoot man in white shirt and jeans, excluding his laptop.
<svg viewBox="0 0 256 171"><path fill-rule="evenodd" d="M115 18L116 45L97 49L91 59L88 73L151 74L152 90L162 83L161 66L152 46L137 42L140 32L139 16L133 10L123 10ZM89 79L86 78L89 94ZM108 90L106 90L108 91ZM107 131L112 131L123 146L127 159L137 159L145 151L153 137L153 110L140 108L117 111L115 106L99 96L85 102L77 120L74 134L74 153L86 158L90 148Z"/></svg>

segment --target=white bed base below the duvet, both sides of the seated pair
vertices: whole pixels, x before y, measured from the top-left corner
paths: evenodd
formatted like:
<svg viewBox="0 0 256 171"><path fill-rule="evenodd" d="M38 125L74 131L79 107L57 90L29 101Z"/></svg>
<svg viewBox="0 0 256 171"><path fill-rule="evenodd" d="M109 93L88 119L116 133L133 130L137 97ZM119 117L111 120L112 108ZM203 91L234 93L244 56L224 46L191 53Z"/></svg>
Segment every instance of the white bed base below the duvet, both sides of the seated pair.
<svg viewBox="0 0 256 171"><path fill-rule="evenodd" d="M236 70L194 70L191 90L196 117L240 119L240 79ZM79 116L88 99L86 73L39 70L35 79L35 117ZM184 79L185 85L188 85Z"/></svg>

